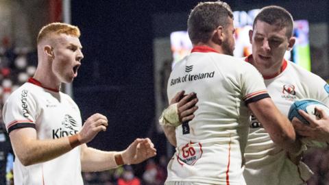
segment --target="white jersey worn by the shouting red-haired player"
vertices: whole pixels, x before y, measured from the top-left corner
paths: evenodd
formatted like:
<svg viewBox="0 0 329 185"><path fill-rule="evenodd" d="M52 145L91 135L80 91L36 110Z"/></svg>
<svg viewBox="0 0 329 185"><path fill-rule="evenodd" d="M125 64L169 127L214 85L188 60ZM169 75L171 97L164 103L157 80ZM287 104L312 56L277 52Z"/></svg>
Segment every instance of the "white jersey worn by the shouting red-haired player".
<svg viewBox="0 0 329 185"><path fill-rule="evenodd" d="M58 90L42 88L33 78L10 95L3 107L3 120L8 133L33 127L39 140L70 136L82 127L80 110L71 97ZM14 184L83 184L80 147L27 167L15 158Z"/></svg>

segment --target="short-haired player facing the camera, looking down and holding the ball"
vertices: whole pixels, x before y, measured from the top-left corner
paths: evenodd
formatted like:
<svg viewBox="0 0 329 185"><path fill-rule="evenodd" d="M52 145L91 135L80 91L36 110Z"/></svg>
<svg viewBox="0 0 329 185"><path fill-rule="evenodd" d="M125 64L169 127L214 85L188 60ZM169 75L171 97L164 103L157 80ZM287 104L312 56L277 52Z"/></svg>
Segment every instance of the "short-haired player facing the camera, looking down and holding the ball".
<svg viewBox="0 0 329 185"><path fill-rule="evenodd" d="M276 106L285 115L293 101L297 99L317 99L329 105L329 87L317 75L284 59L285 51L290 51L295 43L293 37L293 18L287 10L279 6L267 6L260 10L254 20L253 30L249 32L252 43L252 55L245 58L256 66L265 79L269 95ZM177 101L173 101L175 103ZM184 103L181 103L184 106ZM192 110L193 108L190 109ZM185 112L190 116L193 111ZM328 115L322 110L321 120L310 118L310 126L298 123L293 119L296 131L302 136L308 136L319 141L329 140ZM181 119L186 119L178 114ZM193 116L193 115L192 115ZM258 117L258 116L256 116ZM245 149L245 171L243 173L247 184L306 184L313 174L300 162L301 147L297 153L287 153L282 147L271 140L265 129L265 122L252 116L249 124L249 136Z"/></svg>

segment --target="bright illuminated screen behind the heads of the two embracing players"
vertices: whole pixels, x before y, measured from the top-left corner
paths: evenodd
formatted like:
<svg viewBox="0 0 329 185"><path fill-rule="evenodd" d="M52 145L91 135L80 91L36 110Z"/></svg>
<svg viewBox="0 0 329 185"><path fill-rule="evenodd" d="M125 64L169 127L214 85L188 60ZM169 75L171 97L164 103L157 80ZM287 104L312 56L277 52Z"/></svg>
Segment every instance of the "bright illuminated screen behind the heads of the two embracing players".
<svg viewBox="0 0 329 185"><path fill-rule="evenodd" d="M252 53L252 45L249 42L249 30L256 17L258 9L249 12L234 12L235 50L234 56L244 57ZM291 60L310 71L310 44L308 41L308 21L294 21L293 34L296 42L292 51L287 51L284 58ZM173 53L173 64L182 60L192 49L191 40L186 31L172 32L170 35L171 51Z"/></svg>

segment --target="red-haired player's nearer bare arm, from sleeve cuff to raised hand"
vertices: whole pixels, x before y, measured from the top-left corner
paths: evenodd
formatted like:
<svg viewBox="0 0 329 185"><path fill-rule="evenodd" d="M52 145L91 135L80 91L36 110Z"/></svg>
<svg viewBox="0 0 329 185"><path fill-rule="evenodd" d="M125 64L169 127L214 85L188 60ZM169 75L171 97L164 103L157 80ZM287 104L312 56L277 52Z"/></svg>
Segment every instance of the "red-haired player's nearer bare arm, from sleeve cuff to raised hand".
<svg viewBox="0 0 329 185"><path fill-rule="evenodd" d="M12 130L10 140L16 156L23 165L46 162L62 156L82 143L88 143L98 132L106 130L108 120L101 114L90 116L77 134L57 139L40 140L32 127Z"/></svg>

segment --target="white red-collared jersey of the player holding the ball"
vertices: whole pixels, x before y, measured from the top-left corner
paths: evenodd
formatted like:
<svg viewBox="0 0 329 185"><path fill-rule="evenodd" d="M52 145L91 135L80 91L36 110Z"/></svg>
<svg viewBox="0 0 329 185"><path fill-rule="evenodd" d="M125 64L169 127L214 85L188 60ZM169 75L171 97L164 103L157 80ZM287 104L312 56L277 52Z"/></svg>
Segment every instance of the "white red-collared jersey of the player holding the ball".
<svg viewBox="0 0 329 185"><path fill-rule="evenodd" d="M317 99L329 106L328 84L293 62L283 60L279 75L264 78L269 95L284 115L288 115L289 108L297 99ZM245 162L243 175L247 184L303 184L313 174L306 164L293 164L254 116L250 122Z"/></svg>

